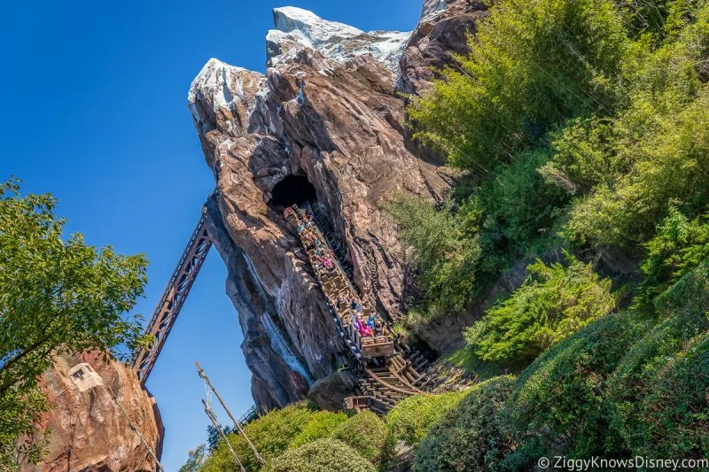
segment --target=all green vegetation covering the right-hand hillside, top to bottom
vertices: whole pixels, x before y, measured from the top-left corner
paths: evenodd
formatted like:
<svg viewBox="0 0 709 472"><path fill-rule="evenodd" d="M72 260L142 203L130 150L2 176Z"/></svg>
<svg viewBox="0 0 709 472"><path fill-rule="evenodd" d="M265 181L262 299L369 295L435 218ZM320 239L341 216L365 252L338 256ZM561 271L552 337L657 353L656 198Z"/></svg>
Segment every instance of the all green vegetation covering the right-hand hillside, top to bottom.
<svg viewBox="0 0 709 472"><path fill-rule="evenodd" d="M420 214L466 228L446 247L478 248L470 276L418 278L429 316L447 313L436 286L471 304L532 261L466 331L471 355L522 370L445 415L417 470L705 457L709 4L499 0L470 48L409 107L417 137L467 176L445 205L391 213L417 224L401 240L422 273L459 255L421 244L440 225Z"/></svg>

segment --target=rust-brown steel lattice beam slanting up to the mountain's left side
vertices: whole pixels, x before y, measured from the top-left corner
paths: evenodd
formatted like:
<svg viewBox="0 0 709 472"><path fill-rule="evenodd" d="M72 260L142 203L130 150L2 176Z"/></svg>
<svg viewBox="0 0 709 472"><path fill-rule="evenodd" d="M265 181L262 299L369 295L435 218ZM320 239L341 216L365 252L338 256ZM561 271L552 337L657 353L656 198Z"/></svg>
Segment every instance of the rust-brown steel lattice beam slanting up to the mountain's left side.
<svg viewBox="0 0 709 472"><path fill-rule="evenodd" d="M155 307L150 322L145 328L144 334L151 335L154 340L150 346L137 349L134 352L133 368L136 370L141 384L145 384L153 366L155 366L162 346L168 339L170 329L175 324L184 300L189 295L192 284L211 247L212 239L206 229L206 221L204 218L200 218L197 228L192 233L190 243L187 244L183 256L177 263L175 272L170 277L168 286L160 298L160 303Z"/></svg>

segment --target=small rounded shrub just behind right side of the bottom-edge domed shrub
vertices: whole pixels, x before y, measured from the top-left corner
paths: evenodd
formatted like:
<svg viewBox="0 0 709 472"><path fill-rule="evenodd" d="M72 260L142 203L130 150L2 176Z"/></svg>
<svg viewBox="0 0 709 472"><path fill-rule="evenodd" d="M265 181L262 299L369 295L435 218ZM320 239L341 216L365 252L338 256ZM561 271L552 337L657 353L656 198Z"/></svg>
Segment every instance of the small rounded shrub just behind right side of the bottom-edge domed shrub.
<svg viewBox="0 0 709 472"><path fill-rule="evenodd" d="M331 437L349 445L378 466L386 443L386 424L376 414L364 411L340 424Z"/></svg>

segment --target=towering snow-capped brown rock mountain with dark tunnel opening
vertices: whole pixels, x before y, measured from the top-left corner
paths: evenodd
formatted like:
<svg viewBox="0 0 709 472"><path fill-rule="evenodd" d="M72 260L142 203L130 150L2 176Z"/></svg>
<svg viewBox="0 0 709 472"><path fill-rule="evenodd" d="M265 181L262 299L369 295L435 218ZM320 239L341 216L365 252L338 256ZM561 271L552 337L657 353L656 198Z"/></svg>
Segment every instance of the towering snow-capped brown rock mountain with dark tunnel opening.
<svg viewBox="0 0 709 472"><path fill-rule="evenodd" d="M279 8L266 74L210 59L192 82L188 105L216 181L206 220L260 409L303 398L345 361L284 206L316 205L362 297L400 317L409 281L384 207L402 192L440 199L452 182L410 143L400 92L426 89L483 10L427 0L413 33L365 33Z"/></svg>

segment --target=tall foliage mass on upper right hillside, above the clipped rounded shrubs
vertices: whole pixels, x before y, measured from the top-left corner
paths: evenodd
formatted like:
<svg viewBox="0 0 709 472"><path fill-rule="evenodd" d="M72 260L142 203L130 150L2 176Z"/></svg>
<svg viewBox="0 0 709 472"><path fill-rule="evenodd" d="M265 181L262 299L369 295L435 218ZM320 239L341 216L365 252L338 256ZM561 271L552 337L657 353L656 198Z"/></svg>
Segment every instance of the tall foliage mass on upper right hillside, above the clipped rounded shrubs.
<svg viewBox="0 0 709 472"><path fill-rule="evenodd" d="M429 298L447 287L458 308L550 245L638 257L671 208L705 213L704 1L500 0L470 47L409 106L418 137L470 174L455 204L392 212ZM464 270L440 270L466 246Z"/></svg>

